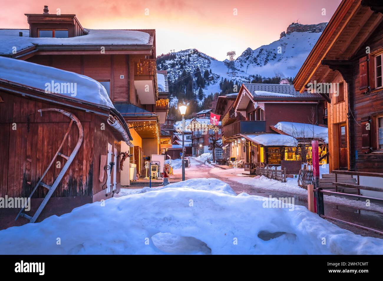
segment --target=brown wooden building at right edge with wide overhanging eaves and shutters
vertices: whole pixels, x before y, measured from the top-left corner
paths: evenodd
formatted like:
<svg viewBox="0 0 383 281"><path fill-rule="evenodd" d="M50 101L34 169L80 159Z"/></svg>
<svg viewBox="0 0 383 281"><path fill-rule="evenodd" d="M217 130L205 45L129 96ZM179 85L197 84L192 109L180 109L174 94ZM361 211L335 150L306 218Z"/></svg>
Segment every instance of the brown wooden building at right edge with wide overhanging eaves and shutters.
<svg viewBox="0 0 383 281"><path fill-rule="evenodd" d="M295 77L327 101L330 171L383 172L382 13L381 1L343 0Z"/></svg>

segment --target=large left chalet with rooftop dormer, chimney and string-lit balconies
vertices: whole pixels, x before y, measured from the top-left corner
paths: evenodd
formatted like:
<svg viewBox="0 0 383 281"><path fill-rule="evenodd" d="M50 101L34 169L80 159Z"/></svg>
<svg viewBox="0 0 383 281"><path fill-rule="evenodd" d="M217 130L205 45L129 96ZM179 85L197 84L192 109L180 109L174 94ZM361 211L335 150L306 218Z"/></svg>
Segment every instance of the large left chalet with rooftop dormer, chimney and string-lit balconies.
<svg viewBox="0 0 383 281"><path fill-rule="evenodd" d="M32 38L32 44L16 52L10 48L9 54L4 56L72 71L99 81L111 101L118 104L116 108L134 136L134 148L124 143L121 148L134 155L130 163L141 167L145 157L158 154L160 124L165 123L169 100L166 79L164 89L158 91L155 30L89 30L82 27L75 15L49 14L47 6L43 14L25 15L29 31L21 31L20 36ZM19 36L18 33L15 31L15 36ZM33 41L38 37L45 37L45 40ZM49 37L56 40L49 41ZM145 37L148 38L145 42L139 39ZM161 75L161 79L167 77L166 73ZM142 169L137 170L140 176ZM123 172L122 185L129 185L129 172L130 169Z"/></svg>

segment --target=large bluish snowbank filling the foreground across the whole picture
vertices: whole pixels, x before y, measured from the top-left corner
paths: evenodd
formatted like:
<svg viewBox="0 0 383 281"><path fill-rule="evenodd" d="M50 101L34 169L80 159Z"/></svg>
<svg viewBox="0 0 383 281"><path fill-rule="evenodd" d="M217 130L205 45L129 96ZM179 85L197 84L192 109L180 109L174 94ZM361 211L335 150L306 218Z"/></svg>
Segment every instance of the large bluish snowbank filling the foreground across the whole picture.
<svg viewBox="0 0 383 281"><path fill-rule="evenodd" d="M201 186L209 181L215 184L205 179ZM110 198L41 223L10 227L0 231L1 253L383 253L382 239L355 235L305 207L266 208L264 197L188 185Z"/></svg>

